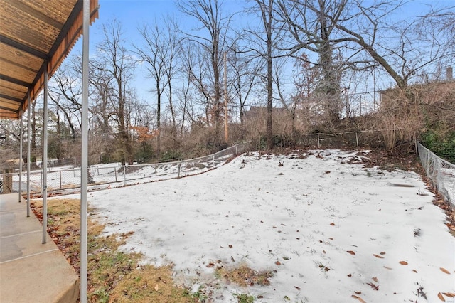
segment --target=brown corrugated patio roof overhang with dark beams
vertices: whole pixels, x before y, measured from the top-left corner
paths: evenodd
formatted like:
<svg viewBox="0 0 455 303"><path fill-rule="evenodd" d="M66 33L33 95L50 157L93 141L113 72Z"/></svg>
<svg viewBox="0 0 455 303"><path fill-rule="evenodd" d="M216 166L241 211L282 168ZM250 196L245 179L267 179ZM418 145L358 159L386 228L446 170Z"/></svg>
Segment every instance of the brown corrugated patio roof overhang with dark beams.
<svg viewBox="0 0 455 303"><path fill-rule="evenodd" d="M0 119L18 119L82 35L82 0L0 0ZM98 0L90 0L90 23Z"/></svg>

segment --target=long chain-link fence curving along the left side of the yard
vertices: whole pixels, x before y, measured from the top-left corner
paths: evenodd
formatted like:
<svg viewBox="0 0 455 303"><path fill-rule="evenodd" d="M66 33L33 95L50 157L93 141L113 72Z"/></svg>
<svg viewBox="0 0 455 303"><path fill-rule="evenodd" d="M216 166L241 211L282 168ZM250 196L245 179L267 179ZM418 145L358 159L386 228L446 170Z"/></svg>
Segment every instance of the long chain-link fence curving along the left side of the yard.
<svg viewBox="0 0 455 303"><path fill-rule="evenodd" d="M233 157L249 151L249 143L218 151L209 156L196 159L173 161L157 164L134 164L122 166L119 164L92 165L88 168L89 190L142 184L146 182L176 179L210 171L222 166ZM80 190L81 170L74 166L48 167L46 184L48 193L75 193ZM2 188L8 188L3 193L19 191L19 174L0 174ZM21 191L26 191L26 173L22 174ZM30 190L32 193L42 193L43 171L30 173Z"/></svg>

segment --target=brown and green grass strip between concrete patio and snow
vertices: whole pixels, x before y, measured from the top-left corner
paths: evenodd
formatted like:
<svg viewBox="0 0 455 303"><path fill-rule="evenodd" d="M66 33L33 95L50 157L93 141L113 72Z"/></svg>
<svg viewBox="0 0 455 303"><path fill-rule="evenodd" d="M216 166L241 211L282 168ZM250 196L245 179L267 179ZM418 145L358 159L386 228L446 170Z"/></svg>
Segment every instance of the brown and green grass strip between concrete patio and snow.
<svg viewBox="0 0 455 303"><path fill-rule="evenodd" d="M33 211L42 219L42 201L33 201ZM48 233L68 262L80 270L80 201L48 200ZM88 221L89 302L199 302L188 289L177 287L172 268L140 265L141 255L119 250L132 233L102 236L103 225Z"/></svg>

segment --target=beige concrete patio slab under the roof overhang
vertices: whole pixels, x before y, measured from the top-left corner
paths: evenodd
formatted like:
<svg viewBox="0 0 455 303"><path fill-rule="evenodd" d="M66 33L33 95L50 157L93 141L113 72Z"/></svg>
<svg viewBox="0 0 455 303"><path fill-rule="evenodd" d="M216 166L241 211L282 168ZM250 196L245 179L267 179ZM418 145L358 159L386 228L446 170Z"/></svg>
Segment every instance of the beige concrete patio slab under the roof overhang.
<svg viewBox="0 0 455 303"><path fill-rule="evenodd" d="M0 195L0 302L77 302L79 277L18 194Z"/></svg>

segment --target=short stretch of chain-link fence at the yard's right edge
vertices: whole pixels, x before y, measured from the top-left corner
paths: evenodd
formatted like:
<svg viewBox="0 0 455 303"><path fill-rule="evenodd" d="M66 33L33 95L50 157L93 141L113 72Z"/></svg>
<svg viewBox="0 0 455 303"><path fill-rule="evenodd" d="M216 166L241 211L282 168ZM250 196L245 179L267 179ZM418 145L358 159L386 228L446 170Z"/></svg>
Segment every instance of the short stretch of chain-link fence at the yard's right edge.
<svg viewBox="0 0 455 303"><path fill-rule="evenodd" d="M455 207L455 164L439 158L419 142L417 143L417 151L422 166L429 179L432 180L433 186L451 203L452 207Z"/></svg>

